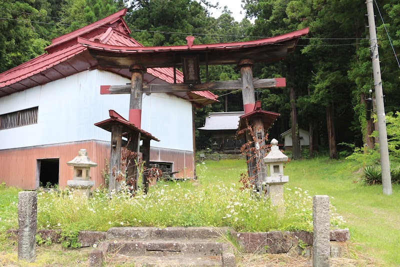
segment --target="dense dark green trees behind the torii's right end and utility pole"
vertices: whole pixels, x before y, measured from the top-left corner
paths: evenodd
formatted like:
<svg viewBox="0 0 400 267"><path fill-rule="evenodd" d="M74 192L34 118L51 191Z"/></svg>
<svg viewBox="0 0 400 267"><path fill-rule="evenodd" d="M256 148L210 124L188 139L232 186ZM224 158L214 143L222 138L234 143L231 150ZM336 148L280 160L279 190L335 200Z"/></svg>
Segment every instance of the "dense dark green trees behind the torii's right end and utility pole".
<svg viewBox="0 0 400 267"><path fill-rule="evenodd" d="M398 26L398 0L383 1L387 15L384 20ZM382 5L382 4L381 4ZM383 5L382 5L383 6ZM373 89L366 6L364 2L347 0L245 0L247 15L256 17L252 35L276 35L309 27L308 39L300 39L297 51L283 62L261 67L261 74L284 75L287 87L294 86L297 95L299 126L310 120L320 125L327 140L327 107L333 107L336 143L346 141L362 144L366 133L365 106L362 95ZM397 9L396 9L397 8ZM382 9L382 8L381 8ZM376 6L375 6L376 10ZM381 10L382 11L382 10ZM377 11L375 11L377 14ZM398 71L381 21L378 25L379 53L382 68L386 110L398 110ZM387 23L386 21L386 23ZM400 34L390 23L391 35ZM398 27L396 27L398 28ZM343 39L347 38L347 39ZM398 42L393 42L396 48ZM390 54L390 53L391 54ZM290 70L290 68L292 68ZM393 75L394 74L394 75ZM281 114L288 113L288 93L277 89L263 90L264 105ZM281 104L275 104L281 103ZM275 106L275 107L274 107ZM289 127L288 121L285 125Z"/></svg>

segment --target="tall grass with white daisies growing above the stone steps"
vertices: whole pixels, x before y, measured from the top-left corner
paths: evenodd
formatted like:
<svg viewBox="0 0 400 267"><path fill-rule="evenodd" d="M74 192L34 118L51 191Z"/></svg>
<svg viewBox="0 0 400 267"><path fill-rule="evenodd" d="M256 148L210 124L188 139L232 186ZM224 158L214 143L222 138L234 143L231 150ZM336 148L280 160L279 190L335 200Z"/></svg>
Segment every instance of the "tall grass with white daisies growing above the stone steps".
<svg viewBox="0 0 400 267"><path fill-rule="evenodd" d="M237 183L159 183L148 194L112 194L97 189L91 198L73 191L40 192L38 227L107 230L112 226L230 226L239 231L311 230L311 196L297 188L286 193L287 212L278 215L268 198ZM340 217L332 214L332 227Z"/></svg>

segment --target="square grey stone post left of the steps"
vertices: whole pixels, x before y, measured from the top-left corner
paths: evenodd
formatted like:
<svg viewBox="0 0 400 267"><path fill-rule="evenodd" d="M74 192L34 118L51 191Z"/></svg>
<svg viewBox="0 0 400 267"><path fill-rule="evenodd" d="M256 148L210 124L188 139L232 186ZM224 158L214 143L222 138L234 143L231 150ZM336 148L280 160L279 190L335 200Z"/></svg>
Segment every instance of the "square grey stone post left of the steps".
<svg viewBox="0 0 400 267"><path fill-rule="evenodd" d="M36 255L37 193L18 193L18 259L34 261Z"/></svg>

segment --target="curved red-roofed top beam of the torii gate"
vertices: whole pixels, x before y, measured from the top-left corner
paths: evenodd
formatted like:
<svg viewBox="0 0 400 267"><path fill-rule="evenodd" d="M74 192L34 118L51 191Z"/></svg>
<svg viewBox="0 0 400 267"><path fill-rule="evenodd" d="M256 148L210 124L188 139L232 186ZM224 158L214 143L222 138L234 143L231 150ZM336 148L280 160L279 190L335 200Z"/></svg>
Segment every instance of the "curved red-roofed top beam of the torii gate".
<svg viewBox="0 0 400 267"><path fill-rule="evenodd" d="M87 46L89 53L103 67L128 68L132 64L147 67L172 67L182 65L181 56L197 55L199 64L237 64L241 59L254 62L281 60L292 52L300 36L308 28L283 35L251 41L193 44L194 37L186 37L186 45L136 46L110 45L78 37L78 42Z"/></svg>

